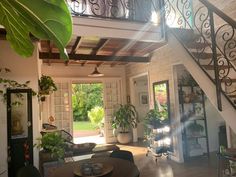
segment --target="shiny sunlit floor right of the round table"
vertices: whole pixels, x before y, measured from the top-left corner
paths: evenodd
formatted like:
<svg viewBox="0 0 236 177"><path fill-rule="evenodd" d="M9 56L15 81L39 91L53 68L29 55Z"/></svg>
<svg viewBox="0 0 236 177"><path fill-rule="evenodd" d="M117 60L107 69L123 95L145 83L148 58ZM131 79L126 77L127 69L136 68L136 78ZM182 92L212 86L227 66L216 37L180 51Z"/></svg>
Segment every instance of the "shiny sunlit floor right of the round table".
<svg viewBox="0 0 236 177"><path fill-rule="evenodd" d="M146 156L145 147L120 145L120 148L134 154L140 177L217 177L215 154L212 154L209 159L195 158L182 164L168 160L166 157L159 157L156 163L151 154Z"/></svg>

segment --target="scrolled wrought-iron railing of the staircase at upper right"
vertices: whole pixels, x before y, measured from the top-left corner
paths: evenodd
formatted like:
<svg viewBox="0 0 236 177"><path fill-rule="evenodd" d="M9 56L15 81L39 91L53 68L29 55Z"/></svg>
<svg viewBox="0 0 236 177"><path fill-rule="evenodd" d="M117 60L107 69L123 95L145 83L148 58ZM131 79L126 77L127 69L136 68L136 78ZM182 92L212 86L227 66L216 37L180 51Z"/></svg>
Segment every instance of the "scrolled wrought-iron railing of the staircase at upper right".
<svg viewBox="0 0 236 177"><path fill-rule="evenodd" d="M236 22L206 0L164 0L165 19L187 52L236 109Z"/></svg>

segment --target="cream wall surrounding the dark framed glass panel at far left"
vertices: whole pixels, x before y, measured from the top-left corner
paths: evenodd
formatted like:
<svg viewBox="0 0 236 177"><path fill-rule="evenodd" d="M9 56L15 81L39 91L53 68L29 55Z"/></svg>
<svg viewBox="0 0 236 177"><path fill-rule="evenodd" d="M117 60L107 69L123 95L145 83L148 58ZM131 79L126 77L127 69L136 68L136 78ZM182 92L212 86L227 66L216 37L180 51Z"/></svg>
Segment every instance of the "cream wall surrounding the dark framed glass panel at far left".
<svg viewBox="0 0 236 177"><path fill-rule="evenodd" d="M18 56L9 46L6 41L0 41L0 67L6 67L11 70L11 73L1 77L14 79L18 82L30 80L29 87L37 91L38 89L38 60L37 52L30 58L22 58ZM7 112L6 104L0 101L0 171L7 169ZM37 97L33 97L33 138L36 143L36 138L39 134L39 107ZM34 149L34 165L38 166L38 151ZM6 177L7 173L1 177Z"/></svg>

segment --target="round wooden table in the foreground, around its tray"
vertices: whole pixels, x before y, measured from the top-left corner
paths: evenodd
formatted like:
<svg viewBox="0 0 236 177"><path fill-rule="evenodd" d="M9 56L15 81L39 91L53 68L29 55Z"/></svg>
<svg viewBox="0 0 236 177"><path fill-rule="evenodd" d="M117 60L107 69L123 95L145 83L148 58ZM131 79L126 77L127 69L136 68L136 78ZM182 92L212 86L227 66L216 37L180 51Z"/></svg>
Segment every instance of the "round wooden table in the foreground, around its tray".
<svg viewBox="0 0 236 177"><path fill-rule="evenodd" d="M75 177L74 170L78 168L79 164L85 162L92 163L109 163L113 165L113 170L111 173L105 175L104 177L138 177L139 170L137 166L127 160L112 158L112 157L102 157L102 158L92 158L76 162L68 162L56 168L49 177Z"/></svg>

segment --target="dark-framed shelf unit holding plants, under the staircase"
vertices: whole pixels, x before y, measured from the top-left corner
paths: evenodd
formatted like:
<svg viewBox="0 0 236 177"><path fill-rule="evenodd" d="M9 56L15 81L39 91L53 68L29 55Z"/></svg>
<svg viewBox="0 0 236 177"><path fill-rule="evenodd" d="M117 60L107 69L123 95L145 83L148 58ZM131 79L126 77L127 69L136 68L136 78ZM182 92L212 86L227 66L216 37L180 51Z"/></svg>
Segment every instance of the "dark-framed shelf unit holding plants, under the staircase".
<svg viewBox="0 0 236 177"><path fill-rule="evenodd" d="M181 85L180 83L178 89L184 160L201 155L209 156L204 92L199 86ZM190 98L185 100L186 95ZM194 129L198 129L199 134L193 134Z"/></svg>

